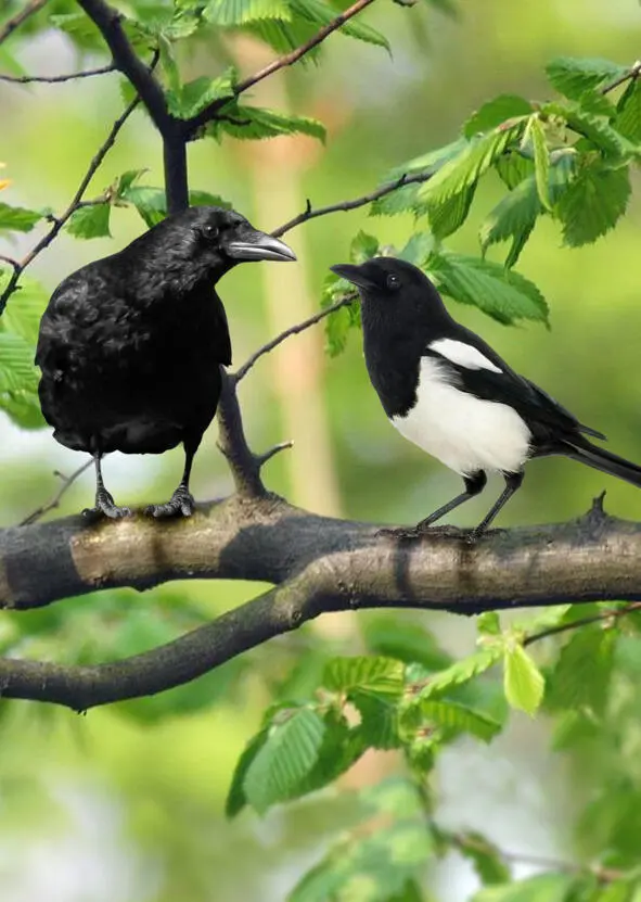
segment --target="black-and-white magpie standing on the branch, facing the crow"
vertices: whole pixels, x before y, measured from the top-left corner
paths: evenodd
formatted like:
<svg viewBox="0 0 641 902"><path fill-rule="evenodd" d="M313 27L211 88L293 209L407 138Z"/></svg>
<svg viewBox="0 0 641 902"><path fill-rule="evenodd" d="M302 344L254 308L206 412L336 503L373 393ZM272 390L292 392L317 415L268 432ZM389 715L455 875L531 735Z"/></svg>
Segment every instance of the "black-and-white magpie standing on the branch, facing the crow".
<svg viewBox="0 0 641 902"><path fill-rule="evenodd" d="M359 290L366 364L390 422L465 483L463 493L406 533L422 533L478 495L486 471L495 470L505 488L473 530L477 538L521 487L524 465L534 457L565 455L641 486L641 467L593 445L587 435L605 436L459 326L415 266L374 257L331 269Z"/></svg>

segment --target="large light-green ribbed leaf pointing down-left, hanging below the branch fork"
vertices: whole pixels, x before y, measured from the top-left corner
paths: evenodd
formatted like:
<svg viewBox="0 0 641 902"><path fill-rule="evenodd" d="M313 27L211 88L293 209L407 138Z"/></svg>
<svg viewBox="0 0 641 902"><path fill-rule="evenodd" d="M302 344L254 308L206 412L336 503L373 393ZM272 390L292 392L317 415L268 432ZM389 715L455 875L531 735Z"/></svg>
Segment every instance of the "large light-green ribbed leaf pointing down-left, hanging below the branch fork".
<svg viewBox="0 0 641 902"><path fill-rule="evenodd" d="M322 717L306 708L279 714L243 782L247 802L258 814L295 792L318 761L325 732Z"/></svg>

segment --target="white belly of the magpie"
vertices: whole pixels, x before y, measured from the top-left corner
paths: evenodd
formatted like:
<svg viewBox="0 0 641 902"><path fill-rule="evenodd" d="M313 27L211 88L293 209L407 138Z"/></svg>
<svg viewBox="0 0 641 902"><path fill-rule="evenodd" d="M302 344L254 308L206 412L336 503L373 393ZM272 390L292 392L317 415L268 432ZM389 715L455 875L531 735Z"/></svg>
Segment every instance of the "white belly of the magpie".
<svg viewBox="0 0 641 902"><path fill-rule="evenodd" d="M409 414L393 417L392 423L457 473L516 472L527 460L531 435L518 414L507 404L459 391L438 361L422 359L416 395Z"/></svg>

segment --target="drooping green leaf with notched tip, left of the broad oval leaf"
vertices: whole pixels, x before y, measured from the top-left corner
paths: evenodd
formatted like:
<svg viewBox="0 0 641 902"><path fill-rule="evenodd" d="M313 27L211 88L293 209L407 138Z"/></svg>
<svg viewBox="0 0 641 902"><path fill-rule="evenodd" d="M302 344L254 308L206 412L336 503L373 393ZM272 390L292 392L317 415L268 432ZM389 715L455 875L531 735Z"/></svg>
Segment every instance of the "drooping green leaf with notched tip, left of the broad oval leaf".
<svg viewBox="0 0 641 902"><path fill-rule="evenodd" d="M537 183L534 176L530 176L505 194L482 224L478 238L483 254L491 244L511 239L512 246L505 257L505 266L514 266L540 213Z"/></svg>

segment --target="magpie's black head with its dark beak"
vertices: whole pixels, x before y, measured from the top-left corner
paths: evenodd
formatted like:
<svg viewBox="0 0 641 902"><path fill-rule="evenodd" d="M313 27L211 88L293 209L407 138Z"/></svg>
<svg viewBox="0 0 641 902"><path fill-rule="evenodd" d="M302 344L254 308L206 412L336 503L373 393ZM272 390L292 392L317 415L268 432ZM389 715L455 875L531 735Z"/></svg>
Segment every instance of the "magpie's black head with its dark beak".
<svg viewBox="0 0 641 902"><path fill-rule="evenodd" d="M332 272L355 284L364 302L407 306L415 300L436 294L430 279L416 266L395 257L372 257L356 266L342 263Z"/></svg>

